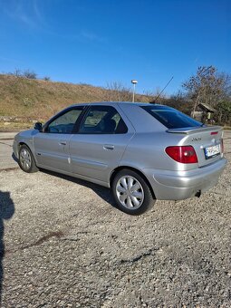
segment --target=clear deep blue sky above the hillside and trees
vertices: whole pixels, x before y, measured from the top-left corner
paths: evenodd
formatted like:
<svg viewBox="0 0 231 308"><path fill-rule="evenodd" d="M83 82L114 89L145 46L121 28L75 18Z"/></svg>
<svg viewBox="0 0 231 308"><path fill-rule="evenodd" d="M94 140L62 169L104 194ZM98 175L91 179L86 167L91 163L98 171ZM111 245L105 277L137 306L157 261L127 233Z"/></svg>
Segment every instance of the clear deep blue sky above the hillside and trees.
<svg viewBox="0 0 231 308"><path fill-rule="evenodd" d="M230 0L0 0L0 72L122 82L168 94L215 65L231 73Z"/></svg>

